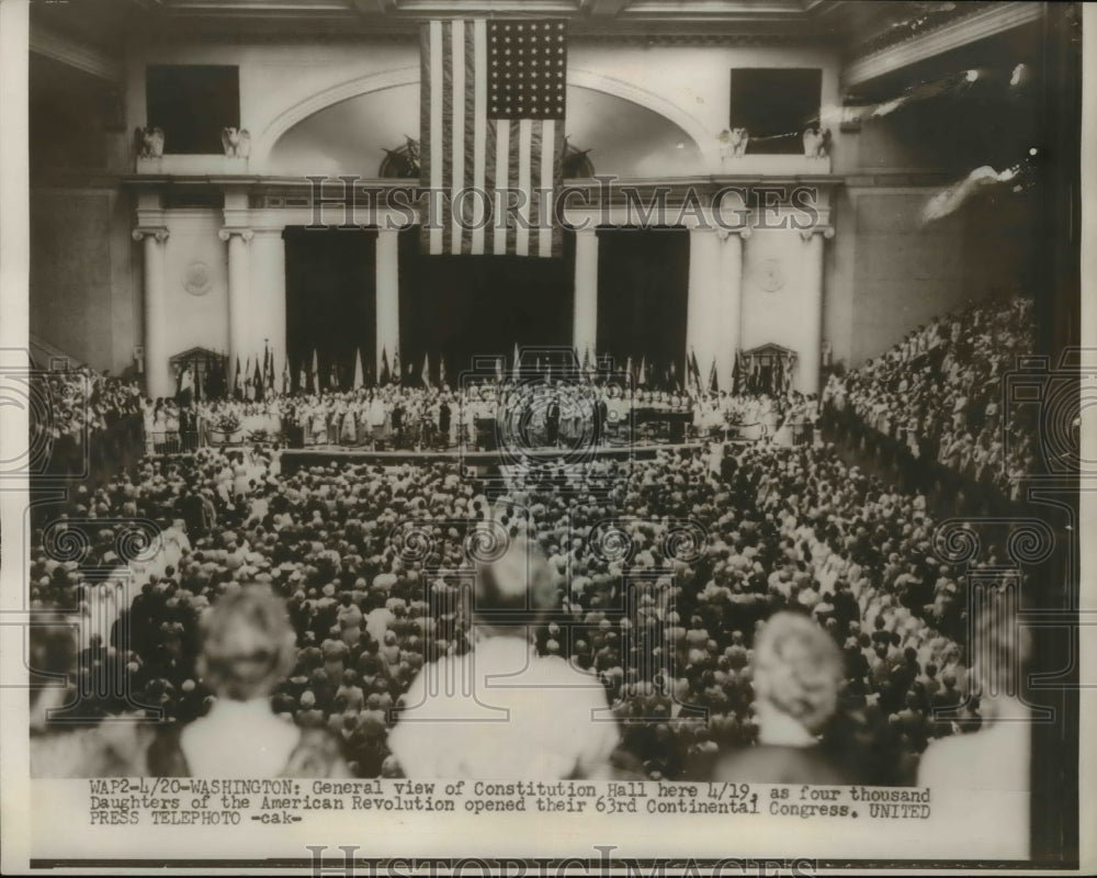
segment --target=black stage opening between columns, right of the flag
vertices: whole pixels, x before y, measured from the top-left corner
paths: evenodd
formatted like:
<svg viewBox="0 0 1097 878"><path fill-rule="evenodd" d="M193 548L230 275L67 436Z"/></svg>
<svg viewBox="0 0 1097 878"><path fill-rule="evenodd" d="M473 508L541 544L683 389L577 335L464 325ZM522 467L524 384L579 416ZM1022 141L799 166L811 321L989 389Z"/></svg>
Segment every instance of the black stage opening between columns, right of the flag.
<svg viewBox="0 0 1097 878"><path fill-rule="evenodd" d="M688 290L687 229L599 229L599 354L611 354L617 368L632 357L634 370L646 360L655 384L665 381L674 362L683 381Z"/></svg>

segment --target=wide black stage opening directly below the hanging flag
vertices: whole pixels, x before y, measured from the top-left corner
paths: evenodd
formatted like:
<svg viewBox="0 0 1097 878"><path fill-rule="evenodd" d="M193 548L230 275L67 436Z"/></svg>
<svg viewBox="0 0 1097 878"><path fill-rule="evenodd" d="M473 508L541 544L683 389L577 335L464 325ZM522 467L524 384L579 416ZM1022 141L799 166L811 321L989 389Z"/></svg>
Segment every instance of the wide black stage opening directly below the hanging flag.
<svg viewBox="0 0 1097 878"><path fill-rule="evenodd" d="M419 381L423 356L430 380L445 357L450 384L472 358L514 345L572 344L575 235L565 230L562 256L426 256L418 230L400 234L400 358L405 380ZM391 357L389 352L389 357Z"/></svg>

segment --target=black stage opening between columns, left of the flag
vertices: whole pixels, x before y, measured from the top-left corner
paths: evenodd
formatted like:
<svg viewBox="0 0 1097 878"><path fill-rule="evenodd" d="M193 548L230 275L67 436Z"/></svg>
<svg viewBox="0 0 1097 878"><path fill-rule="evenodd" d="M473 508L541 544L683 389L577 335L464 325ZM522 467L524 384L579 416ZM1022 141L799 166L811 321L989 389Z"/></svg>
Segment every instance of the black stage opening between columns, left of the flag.
<svg viewBox="0 0 1097 878"><path fill-rule="evenodd" d="M354 354L362 351L363 376L376 362L377 233L373 229L286 228L286 348L294 386L316 351L320 386L354 381Z"/></svg>

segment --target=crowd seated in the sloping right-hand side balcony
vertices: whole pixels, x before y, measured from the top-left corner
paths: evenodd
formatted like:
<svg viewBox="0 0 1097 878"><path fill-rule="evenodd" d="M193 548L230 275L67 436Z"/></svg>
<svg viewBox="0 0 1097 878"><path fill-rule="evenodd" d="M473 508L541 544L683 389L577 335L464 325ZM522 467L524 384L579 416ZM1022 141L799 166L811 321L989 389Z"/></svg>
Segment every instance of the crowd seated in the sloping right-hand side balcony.
<svg viewBox="0 0 1097 878"><path fill-rule="evenodd" d="M825 408L1017 499L1032 472L1034 408L1004 408L1004 379L1032 352L1032 300L969 304L908 333L881 357L832 374ZM948 405L941 405L948 399Z"/></svg>

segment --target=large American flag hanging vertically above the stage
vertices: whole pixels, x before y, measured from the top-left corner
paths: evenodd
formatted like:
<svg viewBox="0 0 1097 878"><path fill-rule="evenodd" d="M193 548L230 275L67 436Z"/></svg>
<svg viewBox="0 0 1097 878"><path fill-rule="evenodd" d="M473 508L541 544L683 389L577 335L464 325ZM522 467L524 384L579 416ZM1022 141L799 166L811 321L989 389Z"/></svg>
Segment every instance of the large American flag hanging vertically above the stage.
<svg viewBox="0 0 1097 878"><path fill-rule="evenodd" d="M421 40L426 251L558 256L564 22L432 21Z"/></svg>

